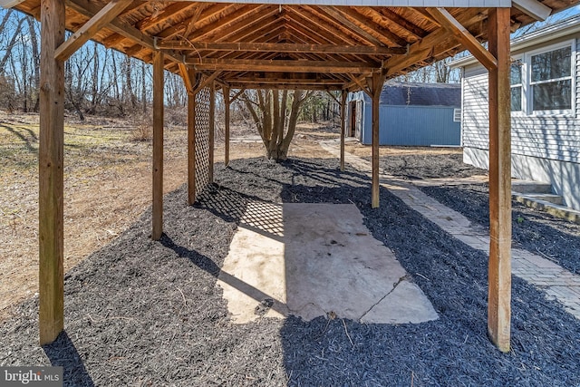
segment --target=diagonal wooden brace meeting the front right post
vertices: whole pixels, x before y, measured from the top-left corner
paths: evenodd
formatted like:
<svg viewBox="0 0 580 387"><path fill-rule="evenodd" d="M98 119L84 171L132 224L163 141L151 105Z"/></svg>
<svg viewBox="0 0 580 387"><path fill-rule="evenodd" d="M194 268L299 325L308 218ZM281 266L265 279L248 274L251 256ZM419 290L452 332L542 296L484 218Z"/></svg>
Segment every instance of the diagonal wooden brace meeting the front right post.
<svg viewBox="0 0 580 387"><path fill-rule="evenodd" d="M493 70L498 66L496 58L491 53L488 53L488 50L469 33L468 29L461 25L445 8L427 8L427 11L443 28L453 34L459 43L463 44L469 50L469 53L472 53L486 69Z"/></svg>

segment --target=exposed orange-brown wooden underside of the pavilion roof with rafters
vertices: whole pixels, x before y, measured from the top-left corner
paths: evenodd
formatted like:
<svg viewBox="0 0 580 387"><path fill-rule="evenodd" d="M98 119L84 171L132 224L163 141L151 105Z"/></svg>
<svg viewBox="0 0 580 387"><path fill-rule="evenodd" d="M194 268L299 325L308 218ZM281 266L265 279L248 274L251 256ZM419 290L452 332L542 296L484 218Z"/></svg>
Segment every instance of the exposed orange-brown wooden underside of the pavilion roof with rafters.
<svg viewBox="0 0 580 387"><path fill-rule="evenodd" d="M106 47L146 63L160 50L167 70L194 69L230 88L353 91L372 73L389 79L466 49L427 7L447 6L482 42L488 8L512 3L517 29L578 0L66 0L65 26L82 39L91 21L90 37ZM41 0L15 8L40 18Z"/></svg>

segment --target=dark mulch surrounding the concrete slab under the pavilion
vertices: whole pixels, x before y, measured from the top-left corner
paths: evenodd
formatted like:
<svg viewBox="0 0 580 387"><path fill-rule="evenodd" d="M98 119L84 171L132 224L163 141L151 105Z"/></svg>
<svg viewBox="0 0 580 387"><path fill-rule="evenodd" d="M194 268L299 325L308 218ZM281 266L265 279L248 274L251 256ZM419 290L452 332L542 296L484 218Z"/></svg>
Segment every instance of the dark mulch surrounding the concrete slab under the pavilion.
<svg viewBox="0 0 580 387"><path fill-rule="evenodd" d="M487 338L487 257L333 160L234 161L196 207L166 197L160 242L146 214L66 276L66 334L38 348L37 301L0 325L0 363L63 365L67 385L579 385L580 321L513 281L512 351ZM440 314L424 324L227 321L216 276L249 200L355 203ZM348 335L347 335L348 332ZM350 339L352 339L352 343Z"/></svg>

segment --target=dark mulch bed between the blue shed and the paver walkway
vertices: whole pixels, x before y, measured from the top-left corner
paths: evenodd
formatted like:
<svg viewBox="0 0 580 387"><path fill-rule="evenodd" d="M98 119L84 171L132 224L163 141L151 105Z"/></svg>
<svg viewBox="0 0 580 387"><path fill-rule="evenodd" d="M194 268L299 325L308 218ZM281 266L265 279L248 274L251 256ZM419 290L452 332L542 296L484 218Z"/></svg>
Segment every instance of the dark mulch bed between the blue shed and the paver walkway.
<svg viewBox="0 0 580 387"><path fill-rule="evenodd" d="M379 166L382 172L402 179L469 178L488 174L485 169L464 164L460 153L383 155Z"/></svg>

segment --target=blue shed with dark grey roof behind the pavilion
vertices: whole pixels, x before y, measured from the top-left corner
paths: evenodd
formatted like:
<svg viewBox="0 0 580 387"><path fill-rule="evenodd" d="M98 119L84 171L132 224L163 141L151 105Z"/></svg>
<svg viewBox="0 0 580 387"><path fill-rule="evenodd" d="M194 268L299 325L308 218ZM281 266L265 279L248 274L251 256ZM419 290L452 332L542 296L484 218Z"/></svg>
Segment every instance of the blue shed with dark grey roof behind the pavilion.
<svg viewBox="0 0 580 387"><path fill-rule="evenodd" d="M349 96L348 134L372 143L372 100L364 92ZM386 82L379 106L381 145L459 146L461 85Z"/></svg>

